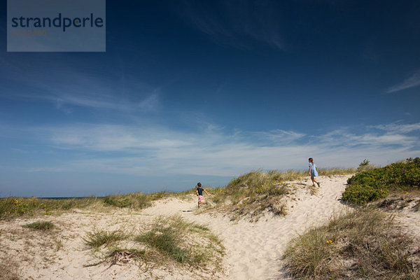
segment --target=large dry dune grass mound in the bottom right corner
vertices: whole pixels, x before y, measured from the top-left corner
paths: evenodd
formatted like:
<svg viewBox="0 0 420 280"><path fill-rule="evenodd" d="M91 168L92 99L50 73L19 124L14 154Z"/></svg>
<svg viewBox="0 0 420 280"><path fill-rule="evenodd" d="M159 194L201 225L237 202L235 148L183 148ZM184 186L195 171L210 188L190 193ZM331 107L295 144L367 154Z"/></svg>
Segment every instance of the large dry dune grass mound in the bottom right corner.
<svg viewBox="0 0 420 280"><path fill-rule="evenodd" d="M363 208L296 237L283 255L297 279L420 279L420 251L381 211Z"/></svg>

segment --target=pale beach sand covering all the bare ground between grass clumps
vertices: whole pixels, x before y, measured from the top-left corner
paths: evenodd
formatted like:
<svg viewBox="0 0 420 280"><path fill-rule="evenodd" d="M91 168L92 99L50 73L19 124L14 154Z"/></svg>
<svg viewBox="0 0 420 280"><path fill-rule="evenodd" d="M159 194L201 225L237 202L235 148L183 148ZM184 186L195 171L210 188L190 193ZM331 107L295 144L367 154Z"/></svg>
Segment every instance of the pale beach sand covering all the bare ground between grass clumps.
<svg viewBox="0 0 420 280"><path fill-rule="evenodd" d="M10 263L15 263L22 279L197 279L190 269L180 271L176 267L155 267L144 272L144 267L139 268L134 261L111 267L109 264L85 267L95 262L83 241L87 232L123 229L135 233L156 216L180 215L186 221L207 225L223 239L224 273L201 274L202 278L288 279L282 272L281 262L288 241L307 228L326 223L332 215L350 211L339 200L347 178L349 176L320 176L321 188L315 195L309 190L309 178L290 182L294 191L286 197L288 214L266 214L255 223L246 218L230 221L229 216L207 212L205 207L197 211L195 195L183 200L174 197L158 200L153 207L142 211L73 210L61 216L0 221L0 253ZM410 215L410 221L415 218L420 221L417 214ZM22 228L40 219L55 223L58 232L40 236L39 232Z"/></svg>

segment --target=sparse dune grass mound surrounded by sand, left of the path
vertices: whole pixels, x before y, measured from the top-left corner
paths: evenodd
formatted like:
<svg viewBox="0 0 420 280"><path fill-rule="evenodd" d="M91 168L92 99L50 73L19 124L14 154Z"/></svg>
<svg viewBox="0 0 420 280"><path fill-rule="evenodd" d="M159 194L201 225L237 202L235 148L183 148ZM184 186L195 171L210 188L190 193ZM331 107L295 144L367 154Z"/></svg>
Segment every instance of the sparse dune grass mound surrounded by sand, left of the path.
<svg viewBox="0 0 420 280"><path fill-rule="evenodd" d="M151 266L167 267L167 262L172 262L181 267L221 271L225 254L221 239L207 226L188 223L180 216L158 217L139 235L120 231L89 232L85 244L96 252L95 255L102 255L99 262L92 265L138 260Z"/></svg>

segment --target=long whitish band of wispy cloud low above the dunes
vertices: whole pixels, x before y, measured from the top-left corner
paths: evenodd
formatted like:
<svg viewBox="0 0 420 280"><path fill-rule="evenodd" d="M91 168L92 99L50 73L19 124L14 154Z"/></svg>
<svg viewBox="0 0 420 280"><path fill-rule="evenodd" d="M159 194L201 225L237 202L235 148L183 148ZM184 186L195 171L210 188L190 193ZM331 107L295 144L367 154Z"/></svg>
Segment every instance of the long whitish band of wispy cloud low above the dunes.
<svg viewBox="0 0 420 280"><path fill-rule="evenodd" d="M302 169L309 157L323 167L351 167L364 158L386 164L419 156L420 136L412 134L416 125L364 127L359 134L342 128L318 136L288 130L230 133L208 126L179 132L155 125L91 124L35 127L25 133L75 157L59 165L31 167L31 172L235 176L259 168Z"/></svg>

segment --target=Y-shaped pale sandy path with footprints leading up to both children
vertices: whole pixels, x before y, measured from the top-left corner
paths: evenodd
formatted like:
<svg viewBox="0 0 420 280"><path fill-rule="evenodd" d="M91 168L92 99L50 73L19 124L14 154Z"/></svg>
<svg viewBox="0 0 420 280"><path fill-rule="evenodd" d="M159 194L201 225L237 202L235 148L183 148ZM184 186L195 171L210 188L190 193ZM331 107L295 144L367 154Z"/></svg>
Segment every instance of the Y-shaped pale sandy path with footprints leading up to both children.
<svg viewBox="0 0 420 280"><path fill-rule="evenodd" d="M293 185L299 188L295 195L290 196L289 214L257 223L235 223L222 216L197 215L193 211L197 207L196 202L181 200L157 202L142 214L179 214L189 221L207 224L223 239L228 279L283 279L279 272L279 258L288 241L308 227L321 225L333 214L346 210L339 198L347 178L349 176L321 176L321 189L316 195L311 195L309 189L304 188L309 186L310 180L294 182Z"/></svg>

